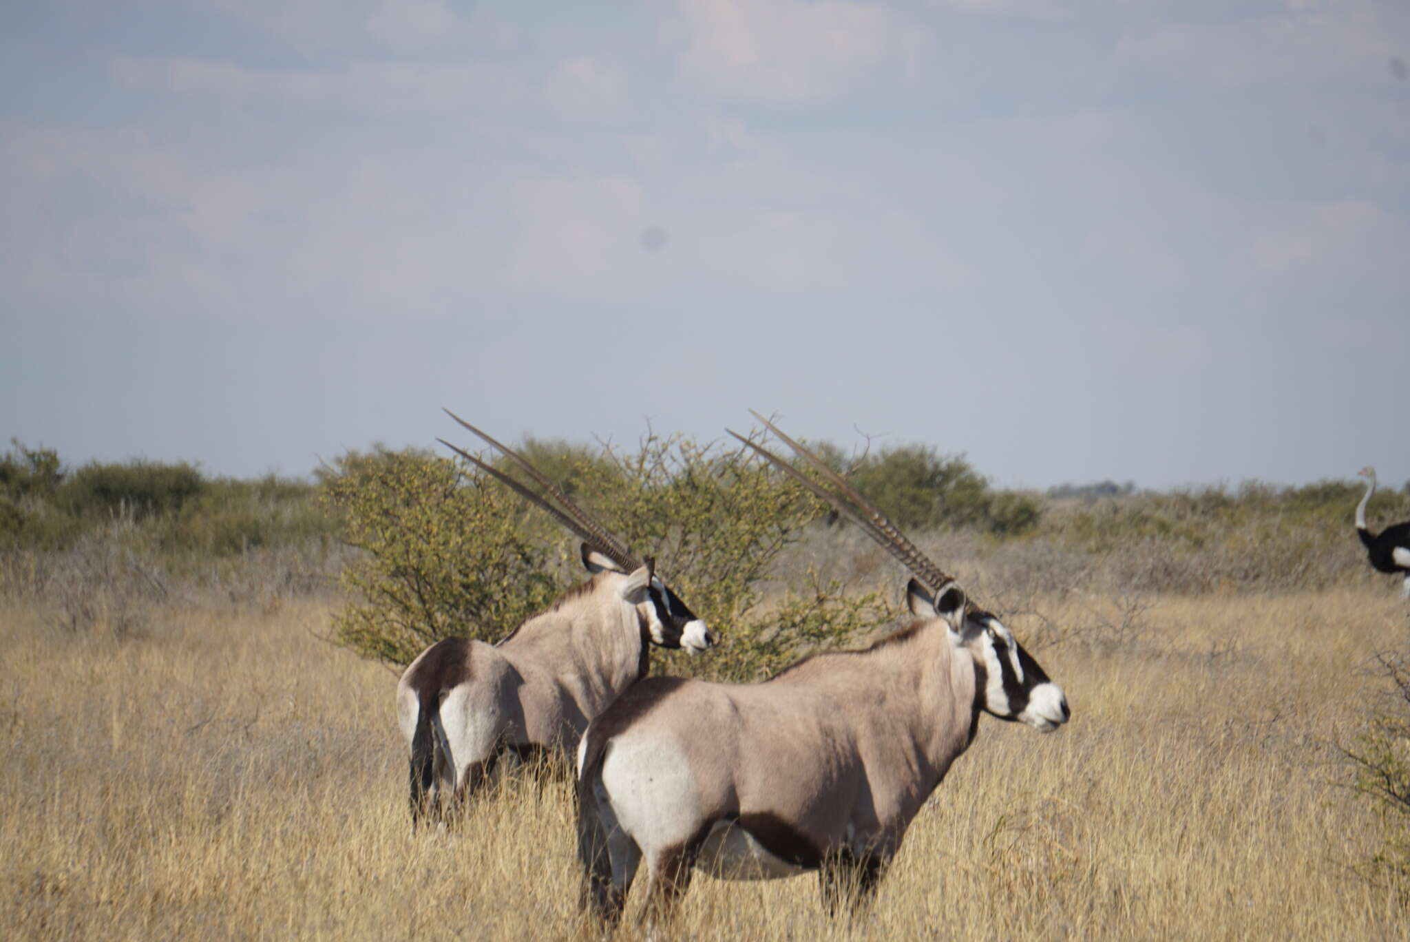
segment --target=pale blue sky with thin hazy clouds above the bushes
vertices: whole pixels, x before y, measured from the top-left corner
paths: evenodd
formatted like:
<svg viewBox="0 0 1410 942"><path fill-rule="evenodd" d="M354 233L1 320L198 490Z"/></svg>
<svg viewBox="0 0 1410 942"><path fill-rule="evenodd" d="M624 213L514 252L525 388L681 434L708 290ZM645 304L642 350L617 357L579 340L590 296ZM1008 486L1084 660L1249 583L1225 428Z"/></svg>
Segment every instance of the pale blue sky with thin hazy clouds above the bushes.
<svg viewBox="0 0 1410 942"><path fill-rule="evenodd" d="M1403 0L6 4L0 436L1399 484L1407 63Z"/></svg>

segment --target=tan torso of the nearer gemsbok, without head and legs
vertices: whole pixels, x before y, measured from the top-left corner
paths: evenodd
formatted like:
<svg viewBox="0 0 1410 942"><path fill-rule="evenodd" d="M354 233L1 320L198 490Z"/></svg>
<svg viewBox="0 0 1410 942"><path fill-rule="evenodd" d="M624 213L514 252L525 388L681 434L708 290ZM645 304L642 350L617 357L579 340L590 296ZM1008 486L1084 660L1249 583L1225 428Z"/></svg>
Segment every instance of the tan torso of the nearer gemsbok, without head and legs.
<svg viewBox="0 0 1410 942"><path fill-rule="evenodd" d="M603 745L601 778L611 790L650 764L651 781L637 784L651 795L643 804L688 809L668 821L619 811L643 850L684 848L704 821L733 819L770 856L811 869L842 850L895 853L969 745L974 670L950 656L943 626L921 626L866 653L814 657L764 684L660 678L639 698L650 698L650 712ZM719 853L697 863L735 869Z"/></svg>

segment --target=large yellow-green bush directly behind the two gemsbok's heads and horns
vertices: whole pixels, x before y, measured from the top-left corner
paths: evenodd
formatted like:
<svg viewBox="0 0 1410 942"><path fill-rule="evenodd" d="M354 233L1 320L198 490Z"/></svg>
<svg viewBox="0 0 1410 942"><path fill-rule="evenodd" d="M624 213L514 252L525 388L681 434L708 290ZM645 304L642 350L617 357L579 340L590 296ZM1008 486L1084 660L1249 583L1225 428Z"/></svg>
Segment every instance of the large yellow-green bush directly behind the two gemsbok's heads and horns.
<svg viewBox="0 0 1410 942"><path fill-rule="evenodd" d="M721 633L721 650L656 657L658 670L757 678L893 613L870 597L843 597L838 584L770 591L778 553L822 508L753 453L656 434L632 451L533 447L536 465L571 479L574 501L634 553L654 556ZM334 618L336 637L364 656L406 664L448 635L496 640L584 578L575 540L547 515L448 458L351 454L323 488L347 539L368 553L344 570L357 599Z"/></svg>

